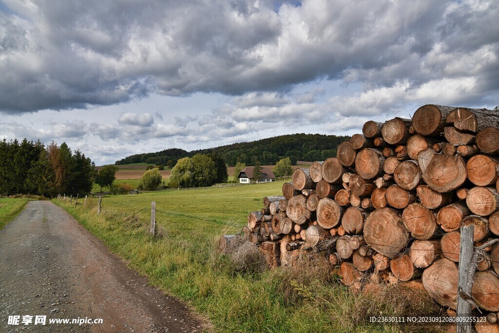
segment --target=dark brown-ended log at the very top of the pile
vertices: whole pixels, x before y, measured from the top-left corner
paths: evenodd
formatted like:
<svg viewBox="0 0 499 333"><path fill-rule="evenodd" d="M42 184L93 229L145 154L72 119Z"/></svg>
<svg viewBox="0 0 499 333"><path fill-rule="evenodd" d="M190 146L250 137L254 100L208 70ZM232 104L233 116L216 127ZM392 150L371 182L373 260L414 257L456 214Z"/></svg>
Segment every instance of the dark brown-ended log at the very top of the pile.
<svg viewBox="0 0 499 333"><path fill-rule="evenodd" d="M455 107L442 105L424 105L414 113L412 126L424 136L438 136L444 131L447 115Z"/></svg>

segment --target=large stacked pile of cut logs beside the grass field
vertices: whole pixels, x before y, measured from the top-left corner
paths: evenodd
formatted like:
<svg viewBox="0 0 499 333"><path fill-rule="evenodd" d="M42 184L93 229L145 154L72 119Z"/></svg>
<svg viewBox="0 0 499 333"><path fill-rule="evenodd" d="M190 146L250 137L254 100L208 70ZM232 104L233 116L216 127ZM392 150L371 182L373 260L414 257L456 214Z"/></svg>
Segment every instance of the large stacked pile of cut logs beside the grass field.
<svg viewBox="0 0 499 333"><path fill-rule="evenodd" d="M499 237L498 178L499 114L425 105L296 169L243 232L271 268L325 255L354 289L410 281L456 310L459 230L473 224L476 246ZM499 244L486 250L472 298L497 323Z"/></svg>

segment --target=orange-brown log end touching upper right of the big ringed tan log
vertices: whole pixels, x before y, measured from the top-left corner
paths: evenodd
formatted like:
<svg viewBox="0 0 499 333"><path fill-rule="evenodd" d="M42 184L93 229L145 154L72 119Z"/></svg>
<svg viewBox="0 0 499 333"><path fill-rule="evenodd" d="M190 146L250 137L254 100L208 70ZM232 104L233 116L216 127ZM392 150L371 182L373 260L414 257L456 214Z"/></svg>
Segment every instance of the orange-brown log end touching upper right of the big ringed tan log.
<svg viewBox="0 0 499 333"><path fill-rule="evenodd" d="M435 238L440 231L435 213L420 203L411 203L404 209L402 222L411 236L419 240Z"/></svg>

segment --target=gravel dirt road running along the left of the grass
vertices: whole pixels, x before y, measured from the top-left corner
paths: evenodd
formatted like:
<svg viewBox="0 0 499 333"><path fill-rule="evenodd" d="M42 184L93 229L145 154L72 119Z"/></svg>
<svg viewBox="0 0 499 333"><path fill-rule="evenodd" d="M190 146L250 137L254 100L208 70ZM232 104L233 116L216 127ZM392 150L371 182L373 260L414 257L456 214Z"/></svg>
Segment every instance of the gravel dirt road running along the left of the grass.
<svg viewBox="0 0 499 333"><path fill-rule="evenodd" d="M20 316L19 325L8 325ZM23 319L31 323L23 325ZM35 325L46 316L46 325ZM102 324L49 324L50 319ZM201 332L202 321L147 285L63 209L30 201L0 230L0 332Z"/></svg>

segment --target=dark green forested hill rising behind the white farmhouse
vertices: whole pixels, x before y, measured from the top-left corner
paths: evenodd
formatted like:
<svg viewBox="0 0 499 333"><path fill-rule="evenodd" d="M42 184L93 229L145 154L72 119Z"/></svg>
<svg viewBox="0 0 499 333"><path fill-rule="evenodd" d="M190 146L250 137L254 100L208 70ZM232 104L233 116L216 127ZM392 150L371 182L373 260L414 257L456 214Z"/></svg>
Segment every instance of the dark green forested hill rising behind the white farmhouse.
<svg viewBox="0 0 499 333"><path fill-rule="evenodd" d="M236 165L238 160L251 165L253 156L256 156L258 161L265 165L273 165L283 157L289 157L291 162L296 164L297 160L322 161L328 157L336 156L336 147L348 139L347 136L338 137L322 134L281 135L191 152L171 148L156 153L136 154L116 161L116 165L152 163L174 166L178 159L192 157L198 153L217 153L224 158L229 166Z"/></svg>

